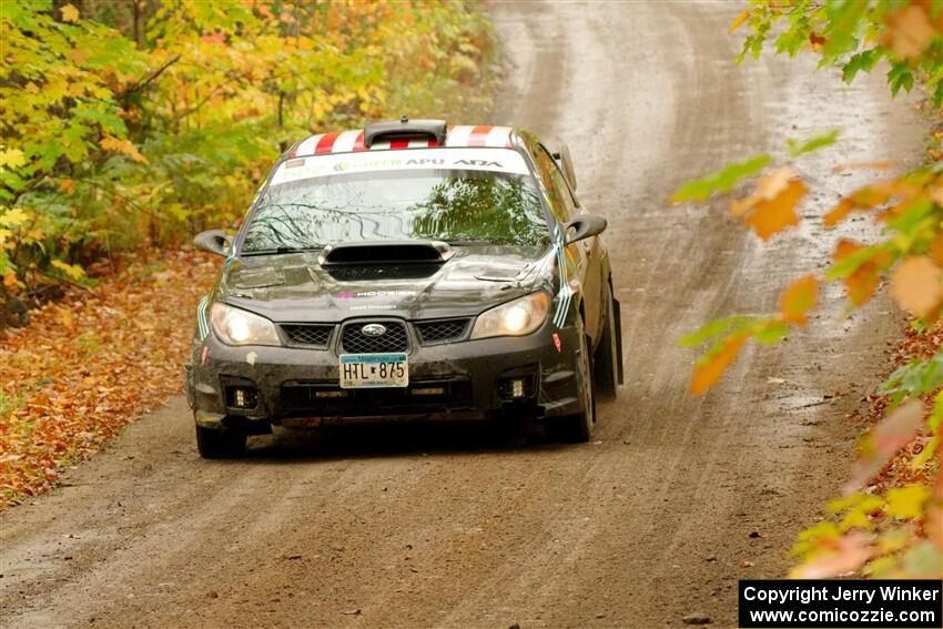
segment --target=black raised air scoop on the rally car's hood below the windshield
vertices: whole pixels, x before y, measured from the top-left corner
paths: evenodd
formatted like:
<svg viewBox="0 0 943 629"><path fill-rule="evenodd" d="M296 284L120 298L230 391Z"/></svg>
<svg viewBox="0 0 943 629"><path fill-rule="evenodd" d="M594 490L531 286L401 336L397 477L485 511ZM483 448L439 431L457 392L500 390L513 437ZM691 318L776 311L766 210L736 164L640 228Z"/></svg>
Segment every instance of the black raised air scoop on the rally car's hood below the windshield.
<svg viewBox="0 0 943 629"><path fill-rule="evenodd" d="M442 264L455 250L442 241L376 241L327 245L317 256L321 266L399 266Z"/></svg>

